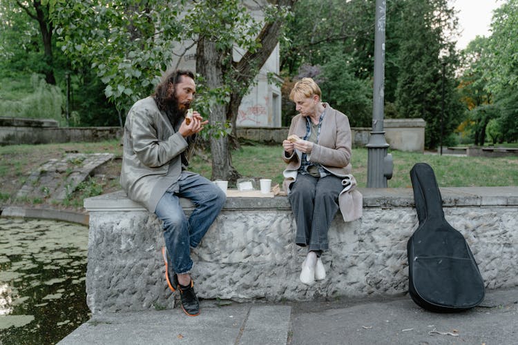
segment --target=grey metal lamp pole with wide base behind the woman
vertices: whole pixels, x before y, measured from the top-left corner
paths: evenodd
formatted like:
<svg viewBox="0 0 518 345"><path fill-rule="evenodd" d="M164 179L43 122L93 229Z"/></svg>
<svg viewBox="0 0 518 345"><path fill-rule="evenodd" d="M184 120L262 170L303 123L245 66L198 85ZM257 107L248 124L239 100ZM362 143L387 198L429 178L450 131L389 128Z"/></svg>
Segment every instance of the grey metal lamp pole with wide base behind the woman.
<svg viewBox="0 0 518 345"><path fill-rule="evenodd" d="M392 155L387 155L389 144L383 130L385 81L385 0L376 0L374 32L374 94L372 105L372 132L367 144L367 187L386 188L392 177Z"/></svg>

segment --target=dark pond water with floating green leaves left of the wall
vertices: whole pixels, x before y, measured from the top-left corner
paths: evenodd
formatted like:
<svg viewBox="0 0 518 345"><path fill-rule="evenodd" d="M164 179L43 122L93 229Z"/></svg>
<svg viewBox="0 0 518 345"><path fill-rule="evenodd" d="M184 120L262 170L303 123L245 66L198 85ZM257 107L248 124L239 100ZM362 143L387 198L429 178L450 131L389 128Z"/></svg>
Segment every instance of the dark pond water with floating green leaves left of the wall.
<svg viewBox="0 0 518 345"><path fill-rule="evenodd" d="M0 344L56 344L88 321L88 227L0 217Z"/></svg>

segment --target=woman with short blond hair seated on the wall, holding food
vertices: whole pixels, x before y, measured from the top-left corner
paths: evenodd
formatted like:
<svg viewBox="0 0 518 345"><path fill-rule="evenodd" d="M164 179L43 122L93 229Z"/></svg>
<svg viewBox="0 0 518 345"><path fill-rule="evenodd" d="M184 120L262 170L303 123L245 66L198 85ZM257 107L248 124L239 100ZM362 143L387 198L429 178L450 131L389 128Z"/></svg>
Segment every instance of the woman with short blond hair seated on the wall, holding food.
<svg viewBox="0 0 518 345"><path fill-rule="evenodd" d="M325 279L320 255L329 248L327 230L340 207L343 179L352 177L352 135L347 116L321 102L313 79L298 81L289 98L299 114L291 120L288 139L282 141L282 159L288 164L283 186L297 225L295 242L308 247L300 281L311 285Z"/></svg>

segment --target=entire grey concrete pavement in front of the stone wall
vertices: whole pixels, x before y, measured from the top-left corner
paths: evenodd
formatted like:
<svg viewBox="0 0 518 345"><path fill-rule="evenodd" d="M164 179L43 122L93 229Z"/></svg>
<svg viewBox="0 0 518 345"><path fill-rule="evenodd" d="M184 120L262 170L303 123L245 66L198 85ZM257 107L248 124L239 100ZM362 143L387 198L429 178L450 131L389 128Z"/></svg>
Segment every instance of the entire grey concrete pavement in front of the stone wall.
<svg viewBox="0 0 518 345"><path fill-rule="evenodd" d="M181 308L94 315L59 344L518 344L518 286L487 290L481 305L454 314L408 295L201 306L198 317Z"/></svg>

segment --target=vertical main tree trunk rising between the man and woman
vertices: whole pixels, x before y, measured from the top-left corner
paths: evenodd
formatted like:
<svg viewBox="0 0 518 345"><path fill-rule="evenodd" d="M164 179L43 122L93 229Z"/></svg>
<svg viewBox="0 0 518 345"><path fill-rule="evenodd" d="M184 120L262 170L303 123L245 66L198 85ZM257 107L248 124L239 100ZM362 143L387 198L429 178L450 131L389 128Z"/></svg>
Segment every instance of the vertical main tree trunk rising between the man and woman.
<svg viewBox="0 0 518 345"><path fill-rule="evenodd" d="M224 85L223 66L220 57L224 56L216 49L215 42L209 41L204 37L198 40L196 47L196 72L202 75L206 82L207 88L221 88ZM209 115L209 124L224 124L227 120L227 106L215 103L211 108ZM211 137L211 153L212 153L212 179L224 179L236 182L239 175L232 166L230 155L229 137Z"/></svg>

